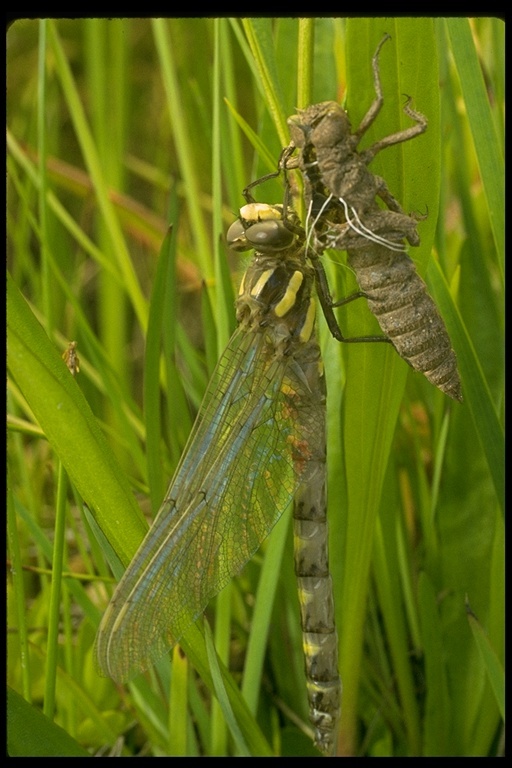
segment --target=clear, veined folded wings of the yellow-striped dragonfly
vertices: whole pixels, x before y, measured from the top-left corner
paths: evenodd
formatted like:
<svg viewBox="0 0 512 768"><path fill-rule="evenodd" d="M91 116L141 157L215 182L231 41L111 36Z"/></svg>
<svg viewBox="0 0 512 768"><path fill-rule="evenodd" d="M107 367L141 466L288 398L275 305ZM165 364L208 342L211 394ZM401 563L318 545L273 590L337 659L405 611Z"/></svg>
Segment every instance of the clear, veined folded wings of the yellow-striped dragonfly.
<svg viewBox="0 0 512 768"><path fill-rule="evenodd" d="M293 356L276 355L261 331L235 331L160 511L103 616L103 673L124 681L157 661L251 558L307 468L316 409Z"/></svg>

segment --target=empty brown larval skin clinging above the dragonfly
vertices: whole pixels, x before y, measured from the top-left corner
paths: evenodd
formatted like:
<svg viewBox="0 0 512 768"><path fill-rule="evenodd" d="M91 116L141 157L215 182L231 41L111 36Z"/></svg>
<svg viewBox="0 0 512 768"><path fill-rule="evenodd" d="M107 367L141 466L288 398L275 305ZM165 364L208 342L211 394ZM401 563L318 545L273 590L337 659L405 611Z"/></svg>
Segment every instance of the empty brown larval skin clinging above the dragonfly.
<svg viewBox="0 0 512 768"><path fill-rule="evenodd" d="M352 132L347 113L336 102L313 104L289 118L291 143L281 162L288 169L298 167L304 177L314 251L346 250L361 289L334 306L365 297L383 340L442 392L461 401L448 331L404 243L419 245L416 225L421 217L406 214L385 180L368 169L381 150L424 133L427 119L411 108L408 98L404 112L415 125L358 150L384 103L378 57L389 39L384 36L373 56L375 99L357 130ZM292 157L295 149L298 157ZM387 209L378 205L377 197Z"/></svg>

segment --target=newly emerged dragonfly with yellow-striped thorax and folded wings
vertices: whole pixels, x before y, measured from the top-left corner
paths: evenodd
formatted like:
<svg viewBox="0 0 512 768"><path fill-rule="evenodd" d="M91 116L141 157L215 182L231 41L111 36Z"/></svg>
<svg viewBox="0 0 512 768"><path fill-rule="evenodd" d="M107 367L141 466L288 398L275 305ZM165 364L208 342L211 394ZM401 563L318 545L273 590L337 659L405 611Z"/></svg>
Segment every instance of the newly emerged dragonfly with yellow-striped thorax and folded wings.
<svg viewBox="0 0 512 768"><path fill-rule="evenodd" d="M227 235L235 250L255 249L236 302L238 325L160 510L102 618L97 660L118 682L155 663L293 502L310 720L317 747L331 755L341 683L327 554L316 271L298 218L287 205L256 203L248 189Z"/></svg>

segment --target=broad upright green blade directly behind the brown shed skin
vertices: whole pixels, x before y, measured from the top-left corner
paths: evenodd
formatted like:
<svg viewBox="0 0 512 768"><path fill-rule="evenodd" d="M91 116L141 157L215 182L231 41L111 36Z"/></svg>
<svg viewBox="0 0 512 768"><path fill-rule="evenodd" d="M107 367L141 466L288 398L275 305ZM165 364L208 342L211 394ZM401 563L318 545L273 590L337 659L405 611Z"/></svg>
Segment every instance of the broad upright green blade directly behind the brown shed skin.
<svg viewBox="0 0 512 768"><path fill-rule="evenodd" d="M375 19L349 22L347 27L348 110L353 128L359 124L375 97L371 58L384 33L391 41L380 56L384 83L384 108L364 146L389 135L400 126L403 94L413 94L414 106L428 115L428 131L414 142L386 150L372 163L405 210L424 209L429 219L420 226L421 259L430 252L434 235L439 187L439 120L437 60L433 24L425 19ZM425 52L425 56L421 55ZM428 53L427 53L428 52ZM428 71L425 71L428 61ZM409 146L414 145L414 146ZM423 168L422 168L423 163ZM418 189L417 180L429 178ZM421 255L423 254L423 256ZM411 253L416 259L416 253ZM347 295L350 290L339 292ZM351 310L344 331L349 336L367 333L366 308ZM367 310L366 310L367 312ZM349 313L347 313L348 316ZM371 326L375 328L375 326ZM371 332L375 332L370 331ZM344 585L338 608L340 626L347 629L340 640L340 672L344 684L342 738L350 744L357 718L357 692L362 656L362 633L369 586L373 534L384 475L402 400L407 366L384 345L346 345L346 386L343 402L343 447L347 477L347 523ZM332 385L330 385L332 389Z"/></svg>

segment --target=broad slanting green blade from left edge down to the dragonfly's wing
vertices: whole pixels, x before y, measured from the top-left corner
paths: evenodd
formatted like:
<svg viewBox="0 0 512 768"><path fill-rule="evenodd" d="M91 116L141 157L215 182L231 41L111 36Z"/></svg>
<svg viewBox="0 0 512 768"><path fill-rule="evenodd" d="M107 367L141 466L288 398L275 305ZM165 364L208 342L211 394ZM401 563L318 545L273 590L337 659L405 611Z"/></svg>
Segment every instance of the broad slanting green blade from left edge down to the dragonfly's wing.
<svg viewBox="0 0 512 768"><path fill-rule="evenodd" d="M125 565L145 532L126 478L90 407L12 280L8 364L47 439Z"/></svg>

